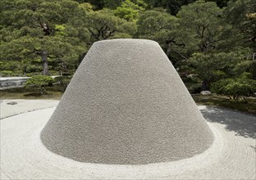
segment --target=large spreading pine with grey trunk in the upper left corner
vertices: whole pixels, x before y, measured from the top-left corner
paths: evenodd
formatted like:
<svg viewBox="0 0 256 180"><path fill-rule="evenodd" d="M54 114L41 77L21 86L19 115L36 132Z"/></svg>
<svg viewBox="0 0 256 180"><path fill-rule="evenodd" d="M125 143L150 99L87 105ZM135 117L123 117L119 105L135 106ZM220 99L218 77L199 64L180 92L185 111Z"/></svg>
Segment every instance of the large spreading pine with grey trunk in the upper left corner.
<svg viewBox="0 0 256 180"><path fill-rule="evenodd" d="M77 60L79 54L86 51L87 47L79 46L80 41L75 29L72 29L71 25L66 25L71 17L80 11L77 2L3 1L6 3L2 2L0 7L0 31L5 34L0 39L2 61L23 64L24 67L21 69L25 73L28 66L36 65L40 61L43 74L48 74L49 61L67 59L70 56Z"/></svg>

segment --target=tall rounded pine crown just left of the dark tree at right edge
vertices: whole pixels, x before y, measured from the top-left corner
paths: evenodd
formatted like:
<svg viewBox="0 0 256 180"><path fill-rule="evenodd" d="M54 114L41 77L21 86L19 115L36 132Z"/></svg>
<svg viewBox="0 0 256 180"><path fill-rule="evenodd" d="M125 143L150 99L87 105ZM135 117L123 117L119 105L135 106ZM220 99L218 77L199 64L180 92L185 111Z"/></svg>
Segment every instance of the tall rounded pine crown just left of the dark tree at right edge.
<svg viewBox="0 0 256 180"><path fill-rule="evenodd" d="M215 2L197 1L178 12L180 37L187 52L210 52L220 41L222 10Z"/></svg>

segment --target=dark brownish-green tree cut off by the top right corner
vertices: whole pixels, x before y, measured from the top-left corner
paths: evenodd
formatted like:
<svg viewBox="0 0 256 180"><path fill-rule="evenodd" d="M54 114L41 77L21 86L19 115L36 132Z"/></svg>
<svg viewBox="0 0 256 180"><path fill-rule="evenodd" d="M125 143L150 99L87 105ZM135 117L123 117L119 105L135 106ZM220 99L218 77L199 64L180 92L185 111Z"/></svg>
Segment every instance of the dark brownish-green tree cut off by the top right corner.
<svg viewBox="0 0 256 180"><path fill-rule="evenodd" d="M222 24L226 29L222 33L221 44L217 47L219 51L231 51L237 48L249 47L252 49L248 59L251 60L250 72L256 79L256 3L252 0L231 0L224 11Z"/></svg>

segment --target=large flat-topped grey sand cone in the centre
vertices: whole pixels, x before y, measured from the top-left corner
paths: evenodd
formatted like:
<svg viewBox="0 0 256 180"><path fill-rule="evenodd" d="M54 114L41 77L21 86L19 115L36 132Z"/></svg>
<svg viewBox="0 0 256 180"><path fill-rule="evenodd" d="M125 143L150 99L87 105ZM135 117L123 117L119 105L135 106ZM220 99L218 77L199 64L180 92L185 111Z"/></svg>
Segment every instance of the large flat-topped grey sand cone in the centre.
<svg viewBox="0 0 256 180"><path fill-rule="evenodd" d="M94 43L43 128L48 148L100 164L149 164L199 154L213 134L153 41Z"/></svg>

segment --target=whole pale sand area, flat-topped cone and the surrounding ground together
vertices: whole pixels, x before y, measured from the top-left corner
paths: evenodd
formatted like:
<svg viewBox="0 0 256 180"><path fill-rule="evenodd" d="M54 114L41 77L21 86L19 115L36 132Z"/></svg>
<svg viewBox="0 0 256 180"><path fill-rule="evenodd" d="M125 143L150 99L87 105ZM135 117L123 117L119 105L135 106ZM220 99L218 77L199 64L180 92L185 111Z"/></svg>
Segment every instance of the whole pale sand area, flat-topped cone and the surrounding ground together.
<svg viewBox="0 0 256 180"><path fill-rule="evenodd" d="M255 116L196 106L153 41L94 43L59 103L17 102L2 179L256 178Z"/></svg>

